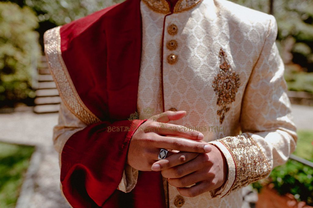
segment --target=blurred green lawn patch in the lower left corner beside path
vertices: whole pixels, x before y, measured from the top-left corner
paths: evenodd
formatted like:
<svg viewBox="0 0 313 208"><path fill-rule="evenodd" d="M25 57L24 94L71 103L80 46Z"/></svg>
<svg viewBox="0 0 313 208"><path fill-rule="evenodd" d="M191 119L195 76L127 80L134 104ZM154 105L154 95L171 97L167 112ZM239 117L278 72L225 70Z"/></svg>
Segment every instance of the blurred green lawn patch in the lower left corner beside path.
<svg viewBox="0 0 313 208"><path fill-rule="evenodd" d="M33 147L0 143L0 207L14 208Z"/></svg>

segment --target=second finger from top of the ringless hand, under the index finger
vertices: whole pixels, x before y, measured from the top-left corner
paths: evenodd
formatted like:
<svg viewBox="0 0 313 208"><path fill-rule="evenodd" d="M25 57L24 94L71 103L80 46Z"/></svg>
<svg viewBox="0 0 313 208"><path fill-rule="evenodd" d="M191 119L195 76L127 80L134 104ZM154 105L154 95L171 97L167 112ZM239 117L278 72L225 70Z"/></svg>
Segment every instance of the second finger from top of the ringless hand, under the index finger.
<svg viewBox="0 0 313 208"><path fill-rule="evenodd" d="M210 165L212 164L208 162L208 155L200 154L190 162L162 170L162 176L165 178L181 178L204 167L210 167Z"/></svg>

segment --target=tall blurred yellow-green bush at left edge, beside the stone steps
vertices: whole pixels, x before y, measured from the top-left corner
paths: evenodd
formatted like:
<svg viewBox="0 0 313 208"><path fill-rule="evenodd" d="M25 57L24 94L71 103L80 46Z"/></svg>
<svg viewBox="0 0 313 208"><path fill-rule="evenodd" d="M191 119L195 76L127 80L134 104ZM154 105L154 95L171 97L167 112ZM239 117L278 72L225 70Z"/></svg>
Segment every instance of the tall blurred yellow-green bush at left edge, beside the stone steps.
<svg viewBox="0 0 313 208"><path fill-rule="evenodd" d="M35 95L31 81L40 54L36 27L37 17L28 7L0 2L0 106Z"/></svg>

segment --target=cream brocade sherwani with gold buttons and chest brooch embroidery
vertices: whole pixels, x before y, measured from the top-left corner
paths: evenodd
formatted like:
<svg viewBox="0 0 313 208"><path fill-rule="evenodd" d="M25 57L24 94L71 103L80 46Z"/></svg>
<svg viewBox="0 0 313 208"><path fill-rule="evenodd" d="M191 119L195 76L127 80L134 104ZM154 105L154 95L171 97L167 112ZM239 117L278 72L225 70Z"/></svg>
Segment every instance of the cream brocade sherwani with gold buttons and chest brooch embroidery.
<svg viewBox="0 0 313 208"><path fill-rule="evenodd" d="M241 207L241 188L267 177L296 146L276 20L226 0L180 0L170 13L165 0L141 1L138 114L145 119L147 110L187 111L171 123L199 130L216 145L227 160L228 178L221 189L193 198L165 181L167 205ZM57 151L85 127L61 103ZM131 191L137 176L127 166L119 189Z"/></svg>

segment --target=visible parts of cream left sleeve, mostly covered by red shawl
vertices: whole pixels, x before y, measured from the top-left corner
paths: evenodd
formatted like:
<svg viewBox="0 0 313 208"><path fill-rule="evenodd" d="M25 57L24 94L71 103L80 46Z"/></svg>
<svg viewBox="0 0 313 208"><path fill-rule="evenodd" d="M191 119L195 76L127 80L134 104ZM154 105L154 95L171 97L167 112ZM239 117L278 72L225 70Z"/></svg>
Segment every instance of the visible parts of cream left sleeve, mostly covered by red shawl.
<svg viewBox="0 0 313 208"><path fill-rule="evenodd" d="M76 132L83 130L87 125L77 118L61 101L59 110L59 122L53 129L54 148L59 153L59 166L61 167L61 153L64 144ZM138 170L126 164L123 178L118 186L118 190L130 192L136 185Z"/></svg>

